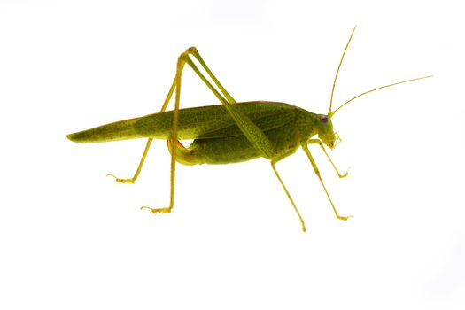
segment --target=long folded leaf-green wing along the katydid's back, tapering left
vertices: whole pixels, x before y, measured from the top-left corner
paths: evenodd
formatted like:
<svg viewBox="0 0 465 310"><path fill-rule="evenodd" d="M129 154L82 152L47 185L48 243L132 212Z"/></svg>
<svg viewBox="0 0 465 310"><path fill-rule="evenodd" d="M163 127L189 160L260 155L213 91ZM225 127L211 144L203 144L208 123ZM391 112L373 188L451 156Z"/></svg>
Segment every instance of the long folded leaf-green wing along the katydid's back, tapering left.
<svg viewBox="0 0 465 310"><path fill-rule="evenodd" d="M281 127L294 120L298 107L283 103L252 101L234 104L262 131ZM173 111L120 120L90 128L67 137L79 143L98 143L151 137L167 139L171 135ZM243 136L223 105L207 105L179 110L178 139L209 139Z"/></svg>

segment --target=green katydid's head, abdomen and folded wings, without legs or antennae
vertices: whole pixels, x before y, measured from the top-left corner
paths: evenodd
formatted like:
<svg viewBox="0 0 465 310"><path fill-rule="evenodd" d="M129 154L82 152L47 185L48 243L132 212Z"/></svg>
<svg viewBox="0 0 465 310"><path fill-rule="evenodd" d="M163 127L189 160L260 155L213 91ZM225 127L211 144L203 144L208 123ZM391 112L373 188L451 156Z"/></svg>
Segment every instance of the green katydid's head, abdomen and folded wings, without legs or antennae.
<svg viewBox="0 0 465 310"><path fill-rule="evenodd" d="M332 132L325 115L307 112L294 105L252 101L235 104L260 128L272 144L274 157L291 155L316 134ZM159 112L136 119L120 120L91 128L68 138L79 143L99 143L134 138L167 140L172 133L173 111ZM329 135L330 136L330 135ZM260 151L244 136L223 105L209 105L179 110L177 137L194 139L190 145L190 161L183 164L228 164L261 157ZM322 139L323 142L325 139ZM329 144L332 148L332 145Z"/></svg>

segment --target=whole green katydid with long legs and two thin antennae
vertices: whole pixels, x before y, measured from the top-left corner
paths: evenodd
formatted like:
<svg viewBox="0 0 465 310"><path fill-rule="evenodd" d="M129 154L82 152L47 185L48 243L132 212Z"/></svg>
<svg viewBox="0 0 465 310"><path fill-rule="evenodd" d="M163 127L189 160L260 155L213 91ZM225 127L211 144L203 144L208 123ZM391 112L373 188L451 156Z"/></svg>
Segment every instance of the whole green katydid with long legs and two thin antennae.
<svg viewBox="0 0 465 310"><path fill-rule="evenodd" d="M116 182L119 183L134 183L136 181L153 139L167 140L168 150L171 153L170 203L169 206L164 208L141 207L141 209L151 210L152 213L171 213L173 210L176 161L184 165L221 165L243 162L260 157L269 159L277 179L283 186L283 190L298 215L303 231L306 231L305 222L298 212L297 205L291 198L289 190L286 189L283 180L275 168L277 162L290 156L298 150L298 147L301 147L310 160L314 168L314 173L322 183L322 188L329 199L329 203L337 219L347 221L350 216L341 216L337 213L336 207L329 196L329 192L322 181L322 176L316 166L314 157L307 145L318 144L329 159L332 167L334 167L339 178L344 178L347 173L339 173L323 145L325 144L332 150L337 143L340 142L337 133L333 130L332 117L334 114L354 99L375 90L430 77L423 76L406 81L399 81L376 89L370 89L346 101L336 110L332 110L337 75L354 32L355 27L345 45L344 53L337 67L337 73L333 82L329 101L329 112L327 114L315 114L295 105L278 102L251 101L237 103L236 100L229 95L229 92L224 89L221 82L218 81L208 66L206 66L198 50L195 47L190 47L177 59L174 81L160 112L135 119L120 120L97 128L90 128L70 134L67 137L69 140L78 143L98 143L148 138L142 159L136 169L136 174L134 174L132 178L120 179L113 174L108 174L114 177ZM205 74L200 72L198 66L196 66L191 57L197 59L198 64L202 66L206 74L208 74L214 85L220 91L206 79ZM198 74L200 80L204 81L208 89L220 100L221 105L209 105L187 109L179 108L182 70L186 64ZM166 112L167 105L171 97L173 97L173 94L174 110ZM179 142L179 140L184 139L194 140L193 143L186 148Z"/></svg>

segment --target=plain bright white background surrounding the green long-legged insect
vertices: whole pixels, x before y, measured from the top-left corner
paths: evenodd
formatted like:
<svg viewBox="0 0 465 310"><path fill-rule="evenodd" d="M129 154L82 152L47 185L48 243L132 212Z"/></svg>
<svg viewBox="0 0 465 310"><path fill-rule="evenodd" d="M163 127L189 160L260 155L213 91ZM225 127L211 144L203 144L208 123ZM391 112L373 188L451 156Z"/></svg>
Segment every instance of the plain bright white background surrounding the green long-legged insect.
<svg viewBox="0 0 465 310"><path fill-rule="evenodd" d="M465 55L459 1L0 1L0 308L463 309ZM196 45L237 101L338 112L339 180L305 154L177 167L144 141L66 134L157 112ZM182 105L216 104L189 70Z"/></svg>

